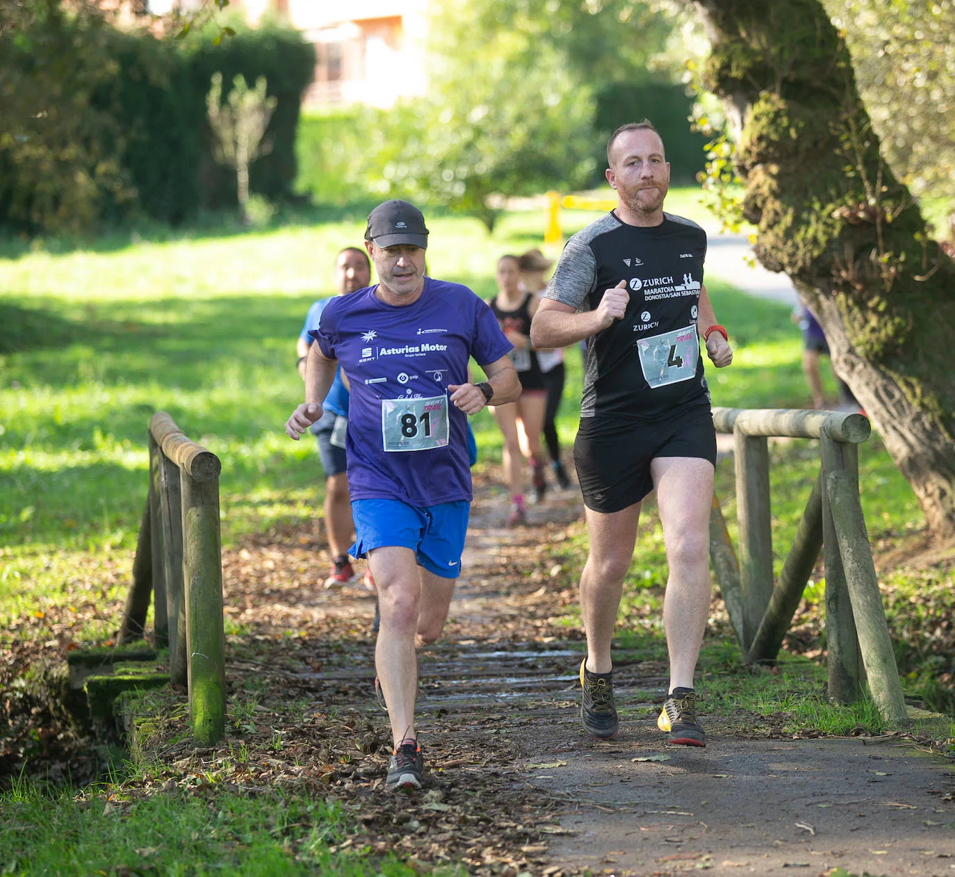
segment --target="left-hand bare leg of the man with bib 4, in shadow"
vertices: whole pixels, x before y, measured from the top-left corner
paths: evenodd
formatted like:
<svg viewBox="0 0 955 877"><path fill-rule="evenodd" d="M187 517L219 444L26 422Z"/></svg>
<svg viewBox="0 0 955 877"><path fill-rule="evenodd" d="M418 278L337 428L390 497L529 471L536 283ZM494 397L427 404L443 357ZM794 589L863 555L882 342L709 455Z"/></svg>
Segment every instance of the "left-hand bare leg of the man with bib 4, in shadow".
<svg viewBox="0 0 955 877"><path fill-rule="evenodd" d="M610 639L624 591L624 576L633 556L640 503L603 514L585 508L590 553L581 573L581 614L587 637L586 669L609 673Z"/></svg>

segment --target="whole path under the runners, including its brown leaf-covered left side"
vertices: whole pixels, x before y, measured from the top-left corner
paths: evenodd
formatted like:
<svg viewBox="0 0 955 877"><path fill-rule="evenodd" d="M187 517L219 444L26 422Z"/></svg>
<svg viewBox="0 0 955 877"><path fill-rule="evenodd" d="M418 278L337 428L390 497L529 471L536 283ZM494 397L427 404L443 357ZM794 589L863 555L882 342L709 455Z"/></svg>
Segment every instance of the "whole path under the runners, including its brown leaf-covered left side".
<svg viewBox="0 0 955 877"><path fill-rule="evenodd" d="M509 530L502 489L476 486L446 635L420 656L429 776L414 800L382 789L371 596L316 586L311 536L270 534L226 558L227 611L251 633L230 637L228 674L255 683L255 710L284 739L252 759L257 781L317 778L358 811L353 843L474 873L955 874L950 766L899 738L745 739L710 717L705 750L671 748L655 727L666 668L626 652L615 655L621 734L585 737L584 644L559 620L578 570L555 562L582 526L579 497L532 506L528 526ZM301 636L276 632L289 626ZM258 730L244 739L253 753L265 745Z"/></svg>

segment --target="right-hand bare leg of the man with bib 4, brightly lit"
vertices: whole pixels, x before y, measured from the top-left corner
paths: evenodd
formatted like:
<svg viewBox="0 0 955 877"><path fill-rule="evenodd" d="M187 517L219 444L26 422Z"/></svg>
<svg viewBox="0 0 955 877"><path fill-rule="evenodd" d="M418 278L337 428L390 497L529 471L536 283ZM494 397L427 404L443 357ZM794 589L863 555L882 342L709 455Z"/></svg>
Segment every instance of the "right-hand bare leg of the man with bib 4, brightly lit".
<svg viewBox="0 0 955 877"><path fill-rule="evenodd" d="M692 688L710 615L710 460L661 457L650 464L663 524L669 574L663 623L669 690Z"/></svg>

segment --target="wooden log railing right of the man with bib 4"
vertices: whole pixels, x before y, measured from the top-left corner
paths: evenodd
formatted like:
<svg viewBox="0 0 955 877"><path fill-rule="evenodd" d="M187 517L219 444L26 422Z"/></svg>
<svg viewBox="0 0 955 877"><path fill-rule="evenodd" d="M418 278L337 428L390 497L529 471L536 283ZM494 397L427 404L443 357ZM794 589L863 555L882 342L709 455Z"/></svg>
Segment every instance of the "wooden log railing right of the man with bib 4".
<svg viewBox="0 0 955 877"><path fill-rule="evenodd" d="M867 678L881 716L909 723L879 581L859 503L859 444L868 419L827 411L714 408L718 433L735 442L739 556L716 496L710 556L732 629L749 663L773 660L789 630L813 567L825 566L826 664L829 696L859 698ZM774 582L767 438L817 438L819 474L793 545Z"/></svg>

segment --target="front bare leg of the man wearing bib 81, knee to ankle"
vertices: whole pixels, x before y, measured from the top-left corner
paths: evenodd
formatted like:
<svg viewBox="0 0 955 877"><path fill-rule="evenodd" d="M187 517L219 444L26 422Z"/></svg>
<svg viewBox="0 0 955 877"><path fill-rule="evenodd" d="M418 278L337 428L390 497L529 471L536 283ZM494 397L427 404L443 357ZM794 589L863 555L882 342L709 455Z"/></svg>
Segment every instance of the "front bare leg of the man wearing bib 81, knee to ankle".
<svg viewBox="0 0 955 877"><path fill-rule="evenodd" d="M397 545L368 553L378 588L381 629L374 647L378 684L388 704L394 747L415 739L414 700L417 695L417 655L414 635L421 606L421 580L414 551Z"/></svg>

